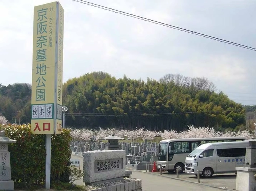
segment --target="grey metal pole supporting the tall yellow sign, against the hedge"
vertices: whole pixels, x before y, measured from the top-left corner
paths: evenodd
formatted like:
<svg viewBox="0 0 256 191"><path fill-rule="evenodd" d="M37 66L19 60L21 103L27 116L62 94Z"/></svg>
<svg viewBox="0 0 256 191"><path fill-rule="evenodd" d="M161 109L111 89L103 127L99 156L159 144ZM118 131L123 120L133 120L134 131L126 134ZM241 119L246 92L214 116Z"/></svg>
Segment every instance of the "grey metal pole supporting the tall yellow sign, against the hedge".
<svg viewBox="0 0 256 191"><path fill-rule="evenodd" d="M51 186L51 134L45 136L46 160L45 160L45 188Z"/></svg>

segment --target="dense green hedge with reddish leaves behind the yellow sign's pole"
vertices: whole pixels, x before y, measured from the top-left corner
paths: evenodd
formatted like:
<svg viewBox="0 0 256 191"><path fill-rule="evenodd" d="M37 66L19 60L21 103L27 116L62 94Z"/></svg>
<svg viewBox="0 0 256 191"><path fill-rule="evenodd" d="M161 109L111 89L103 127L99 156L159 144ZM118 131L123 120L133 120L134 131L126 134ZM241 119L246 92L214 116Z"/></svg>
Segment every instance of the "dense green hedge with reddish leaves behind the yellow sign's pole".
<svg viewBox="0 0 256 191"><path fill-rule="evenodd" d="M45 135L32 134L29 125L0 125L6 136L17 140L8 146L11 157L12 180L27 188L45 180ZM51 179L59 180L71 157L69 129L51 136Z"/></svg>

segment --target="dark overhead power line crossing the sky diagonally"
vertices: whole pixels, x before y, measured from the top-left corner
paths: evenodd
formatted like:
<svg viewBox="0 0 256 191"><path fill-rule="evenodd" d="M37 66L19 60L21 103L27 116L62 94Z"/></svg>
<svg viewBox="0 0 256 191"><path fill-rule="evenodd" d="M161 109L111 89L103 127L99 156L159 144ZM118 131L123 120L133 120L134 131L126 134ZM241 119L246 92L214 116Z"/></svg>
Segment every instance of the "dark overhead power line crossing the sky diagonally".
<svg viewBox="0 0 256 191"><path fill-rule="evenodd" d="M235 45L235 46L238 46L238 47L241 47L241 48L244 48L244 49L249 49L249 50L256 51L256 48L253 48L253 47L249 47L249 46L246 46L246 45L238 44L238 43L231 42L231 41L224 40L224 39L219 39L219 38L216 38L216 37L213 37L213 36L209 36L209 35L206 35L206 34L202 34L202 33L199 33L199 32L190 31L188 29L183 29L183 28L180 28L180 27L177 27L177 26L173 26L173 25L170 25L170 24L161 23L159 21L155 21L155 20L152 20L152 19L147 19L147 18L144 18L144 17L141 17L141 16L133 15L133 14L126 13L124 11L119 11L119 10L116 10L116 9L112 9L112 8L109 8L109 7L106 7L106 6L97 5L95 3L87 2L87 1L84 1L84 0L73 0L73 1L79 2L79 3L83 3L85 5L90 5L90 6L94 6L94 7L97 7L97 8L101 8L101 9L104 9L104 10L107 10L107 11L111 11L111 12L114 12L114 13L119 13L121 15L130 16L130 17L133 17L133 18L136 18L136 19L140 19L140 20L143 20L143 21L147 21L147 22L150 22L150 23L159 24L159 25L162 25L162 26L166 26L166 27L169 27L169 28L172 28L172 29L176 29L176 30L179 30L179 31L183 31L183 32L187 32L187 33L190 33L190 34L195 34L197 36L202 36L202 37L205 37L205 38L208 38L208 39L217 40L219 42L223 42L223 43L226 43L226 44Z"/></svg>

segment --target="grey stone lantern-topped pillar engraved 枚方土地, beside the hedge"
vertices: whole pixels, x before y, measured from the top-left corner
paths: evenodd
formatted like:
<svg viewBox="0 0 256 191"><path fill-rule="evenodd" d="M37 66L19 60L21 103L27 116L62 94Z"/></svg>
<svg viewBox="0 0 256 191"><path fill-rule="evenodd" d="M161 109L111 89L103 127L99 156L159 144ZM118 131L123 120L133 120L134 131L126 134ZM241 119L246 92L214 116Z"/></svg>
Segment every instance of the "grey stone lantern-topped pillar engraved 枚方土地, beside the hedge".
<svg viewBox="0 0 256 191"><path fill-rule="evenodd" d="M15 143L16 141L5 137L5 132L0 131L0 190L14 190L8 144Z"/></svg>

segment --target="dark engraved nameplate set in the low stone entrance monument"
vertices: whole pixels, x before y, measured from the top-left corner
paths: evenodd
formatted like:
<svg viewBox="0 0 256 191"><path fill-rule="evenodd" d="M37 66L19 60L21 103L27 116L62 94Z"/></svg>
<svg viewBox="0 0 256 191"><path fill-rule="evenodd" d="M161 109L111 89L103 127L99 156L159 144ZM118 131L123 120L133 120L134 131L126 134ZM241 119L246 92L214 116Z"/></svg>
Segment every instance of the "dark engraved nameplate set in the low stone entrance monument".
<svg viewBox="0 0 256 191"><path fill-rule="evenodd" d="M96 160L94 162L94 172L106 172L110 170L121 170L123 168L123 159Z"/></svg>

